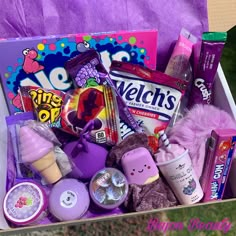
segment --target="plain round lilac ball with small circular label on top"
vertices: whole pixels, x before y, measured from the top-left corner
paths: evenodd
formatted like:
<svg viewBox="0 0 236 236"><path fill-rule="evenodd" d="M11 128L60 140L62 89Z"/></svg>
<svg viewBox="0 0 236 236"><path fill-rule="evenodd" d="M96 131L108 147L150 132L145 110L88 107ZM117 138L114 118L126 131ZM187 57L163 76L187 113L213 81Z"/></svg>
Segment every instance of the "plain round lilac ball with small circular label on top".
<svg viewBox="0 0 236 236"><path fill-rule="evenodd" d="M90 203L86 185L76 179L64 179L55 184L49 195L49 211L60 221L80 219Z"/></svg>

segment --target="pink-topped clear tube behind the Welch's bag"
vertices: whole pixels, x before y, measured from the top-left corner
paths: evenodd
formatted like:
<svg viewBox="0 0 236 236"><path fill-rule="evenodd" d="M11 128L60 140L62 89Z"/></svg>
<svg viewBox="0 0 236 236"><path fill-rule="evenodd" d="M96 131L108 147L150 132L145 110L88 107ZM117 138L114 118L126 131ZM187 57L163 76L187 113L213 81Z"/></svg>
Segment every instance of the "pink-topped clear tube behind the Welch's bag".
<svg viewBox="0 0 236 236"><path fill-rule="evenodd" d="M189 59L192 54L193 45L196 42L197 38L183 28L165 70L165 74L188 82L185 95L179 102L169 127L172 127L186 112L192 82L192 68Z"/></svg>

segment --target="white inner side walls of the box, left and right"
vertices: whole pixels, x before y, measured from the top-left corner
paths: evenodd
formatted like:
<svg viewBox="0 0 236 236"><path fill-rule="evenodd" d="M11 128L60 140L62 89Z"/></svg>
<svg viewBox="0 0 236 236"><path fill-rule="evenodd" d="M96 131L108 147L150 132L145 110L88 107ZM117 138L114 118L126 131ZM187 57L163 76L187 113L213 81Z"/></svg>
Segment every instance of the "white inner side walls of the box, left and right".
<svg viewBox="0 0 236 236"><path fill-rule="evenodd" d="M2 209L2 202L5 195L6 186L6 170L7 170L7 128L5 117L8 115L8 109L5 102L5 97L0 86L0 150L1 150L1 165L0 165L0 229L9 228ZM224 76L221 66L218 67L215 86L214 86L214 104L219 108L227 111L236 120L236 106L228 83Z"/></svg>

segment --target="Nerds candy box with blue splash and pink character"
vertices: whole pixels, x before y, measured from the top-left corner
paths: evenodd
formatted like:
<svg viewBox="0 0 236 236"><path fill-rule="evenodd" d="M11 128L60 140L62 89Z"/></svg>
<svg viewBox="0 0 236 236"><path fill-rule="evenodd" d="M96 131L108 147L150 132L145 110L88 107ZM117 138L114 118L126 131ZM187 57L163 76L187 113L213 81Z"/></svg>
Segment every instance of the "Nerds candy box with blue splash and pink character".
<svg viewBox="0 0 236 236"><path fill-rule="evenodd" d="M156 30L144 30L0 40L0 76L10 114L21 111L21 86L73 88L64 64L88 48L100 53L108 71L112 60L155 69L157 35Z"/></svg>

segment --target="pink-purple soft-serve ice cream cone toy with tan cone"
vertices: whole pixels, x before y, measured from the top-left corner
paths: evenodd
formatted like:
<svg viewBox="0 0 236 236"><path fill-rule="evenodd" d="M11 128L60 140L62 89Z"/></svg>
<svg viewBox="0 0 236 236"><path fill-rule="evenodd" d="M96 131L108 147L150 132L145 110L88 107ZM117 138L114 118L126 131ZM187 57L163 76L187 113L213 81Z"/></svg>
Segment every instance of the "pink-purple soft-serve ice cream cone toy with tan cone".
<svg viewBox="0 0 236 236"><path fill-rule="evenodd" d="M53 184L62 178L56 163L54 145L33 129L23 126L19 131L20 154L23 163L30 164L48 184Z"/></svg>

